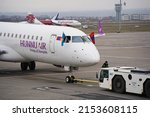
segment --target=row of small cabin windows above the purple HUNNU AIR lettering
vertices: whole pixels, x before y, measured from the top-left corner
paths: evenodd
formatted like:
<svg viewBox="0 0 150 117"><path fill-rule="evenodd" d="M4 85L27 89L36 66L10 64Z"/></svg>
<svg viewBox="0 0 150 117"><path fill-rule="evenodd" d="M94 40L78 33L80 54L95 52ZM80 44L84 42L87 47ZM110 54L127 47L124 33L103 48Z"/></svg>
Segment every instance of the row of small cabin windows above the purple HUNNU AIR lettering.
<svg viewBox="0 0 150 117"><path fill-rule="evenodd" d="M14 33L0 33L0 37L3 36L3 37L11 37L11 38L20 38L20 39L40 39L42 40L43 37L42 36L34 36L34 35L23 35L23 34L14 34Z"/></svg>

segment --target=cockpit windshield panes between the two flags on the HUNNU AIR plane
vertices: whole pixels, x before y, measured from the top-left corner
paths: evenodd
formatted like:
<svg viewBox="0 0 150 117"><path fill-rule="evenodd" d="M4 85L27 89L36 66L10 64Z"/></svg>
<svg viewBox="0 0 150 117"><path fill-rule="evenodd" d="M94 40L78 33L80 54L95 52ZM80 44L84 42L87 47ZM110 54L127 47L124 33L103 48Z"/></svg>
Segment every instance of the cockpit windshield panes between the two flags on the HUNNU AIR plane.
<svg viewBox="0 0 150 117"><path fill-rule="evenodd" d="M90 42L90 39L87 36L73 36L72 42L73 43Z"/></svg>

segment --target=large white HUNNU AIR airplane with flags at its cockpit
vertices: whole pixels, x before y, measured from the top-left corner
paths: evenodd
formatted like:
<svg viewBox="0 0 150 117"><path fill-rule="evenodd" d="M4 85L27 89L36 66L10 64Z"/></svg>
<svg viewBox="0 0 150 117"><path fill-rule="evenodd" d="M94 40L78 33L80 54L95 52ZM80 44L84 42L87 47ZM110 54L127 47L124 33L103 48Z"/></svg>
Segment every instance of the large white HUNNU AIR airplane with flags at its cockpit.
<svg viewBox="0 0 150 117"><path fill-rule="evenodd" d="M66 26L0 22L0 61L20 62L21 70L35 70L36 61L71 71L100 61L89 37ZM71 82L74 76L67 76Z"/></svg>

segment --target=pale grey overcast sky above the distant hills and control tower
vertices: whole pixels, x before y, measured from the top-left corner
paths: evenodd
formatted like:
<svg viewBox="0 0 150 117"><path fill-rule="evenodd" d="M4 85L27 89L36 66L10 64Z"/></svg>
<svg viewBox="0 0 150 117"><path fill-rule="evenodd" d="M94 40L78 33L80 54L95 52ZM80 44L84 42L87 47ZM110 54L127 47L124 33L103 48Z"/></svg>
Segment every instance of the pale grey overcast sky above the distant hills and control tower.
<svg viewBox="0 0 150 117"><path fill-rule="evenodd" d="M114 10L120 0L0 0L0 12ZM126 9L150 8L150 0L122 0Z"/></svg>

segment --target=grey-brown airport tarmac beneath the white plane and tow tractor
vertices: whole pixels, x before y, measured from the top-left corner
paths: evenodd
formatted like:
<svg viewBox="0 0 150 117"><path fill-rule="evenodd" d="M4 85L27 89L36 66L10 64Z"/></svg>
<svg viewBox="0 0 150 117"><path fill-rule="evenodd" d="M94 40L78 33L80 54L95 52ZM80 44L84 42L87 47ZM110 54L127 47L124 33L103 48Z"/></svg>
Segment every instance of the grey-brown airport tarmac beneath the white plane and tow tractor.
<svg viewBox="0 0 150 117"><path fill-rule="evenodd" d="M150 32L108 33L96 39L101 60L79 68L81 82L65 83L69 74L50 64L37 62L35 71L22 72L20 63L0 61L0 100L149 100L149 98L102 89L96 72L107 60L109 66L134 66L150 70Z"/></svg>

